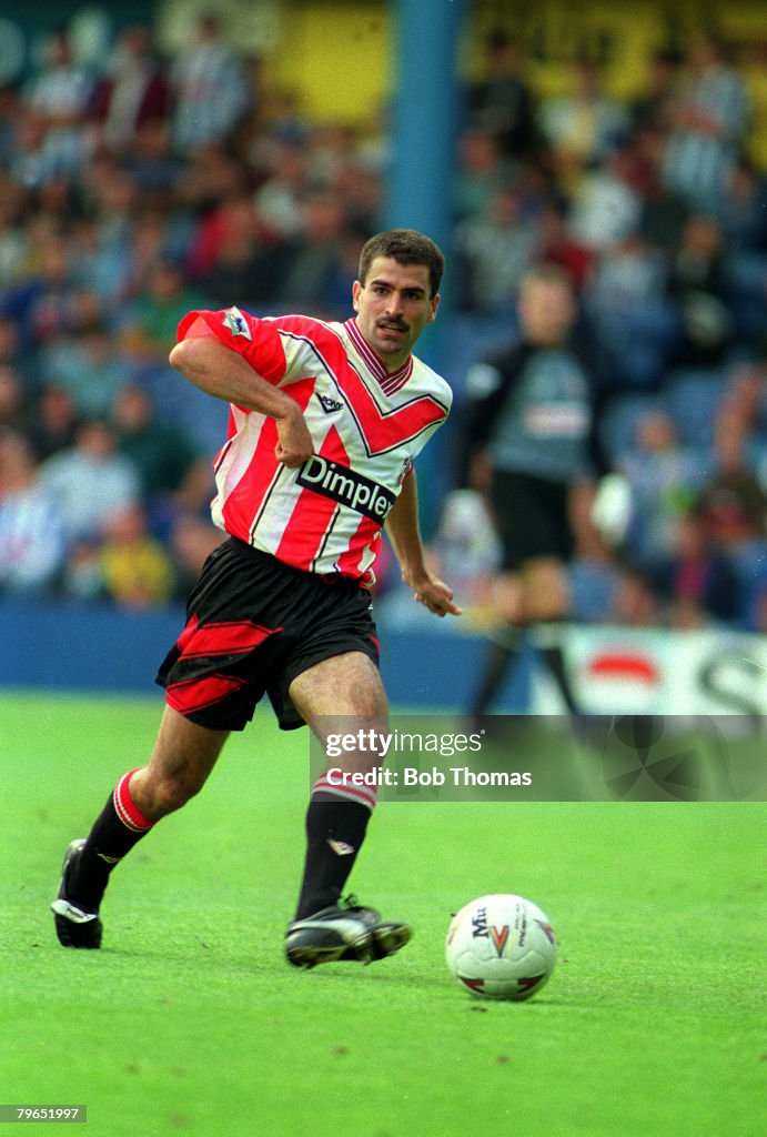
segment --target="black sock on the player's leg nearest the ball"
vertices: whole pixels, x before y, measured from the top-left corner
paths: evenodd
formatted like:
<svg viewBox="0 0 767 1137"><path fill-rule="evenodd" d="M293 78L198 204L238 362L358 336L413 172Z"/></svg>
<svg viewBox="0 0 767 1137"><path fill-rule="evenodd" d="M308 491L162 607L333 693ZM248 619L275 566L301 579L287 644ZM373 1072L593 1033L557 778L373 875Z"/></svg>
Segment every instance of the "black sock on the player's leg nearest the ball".
<svg viewBox="0 0 767 1137"><path fill-rule="evenodd" d="M307 854L297 920L337 904L365 840L370 807L315 790L307 810Z"/></svg>

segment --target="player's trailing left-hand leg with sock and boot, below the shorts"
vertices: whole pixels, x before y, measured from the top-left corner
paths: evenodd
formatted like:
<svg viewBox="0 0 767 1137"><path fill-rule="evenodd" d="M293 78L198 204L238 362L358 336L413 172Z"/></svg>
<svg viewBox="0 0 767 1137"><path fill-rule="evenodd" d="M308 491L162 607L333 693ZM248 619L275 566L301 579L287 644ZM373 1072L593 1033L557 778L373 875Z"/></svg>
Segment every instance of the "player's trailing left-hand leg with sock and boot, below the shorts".
<svg viewBox="0 0 767 1137"><path fill-rule="evenodd" d="M112 869L160 818L200 791L226 738L166 706L149 764L120 778L87 840L67 848L51 905L62 946L101 945L99 908Z"/></svg>

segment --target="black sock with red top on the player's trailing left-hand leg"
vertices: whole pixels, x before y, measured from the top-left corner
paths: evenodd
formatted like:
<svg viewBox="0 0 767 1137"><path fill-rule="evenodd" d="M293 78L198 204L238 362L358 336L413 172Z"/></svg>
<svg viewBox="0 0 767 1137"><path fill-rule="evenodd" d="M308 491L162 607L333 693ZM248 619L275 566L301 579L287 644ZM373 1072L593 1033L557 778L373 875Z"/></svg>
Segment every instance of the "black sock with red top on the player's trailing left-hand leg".
<svg viewBox="0 0 767 1137"><path fill-rule="evenodd" d="M136 808L124 774L95 820L83 852L67 873L67 899L78 908L98 912L109 874L155 824Z"/></svg>

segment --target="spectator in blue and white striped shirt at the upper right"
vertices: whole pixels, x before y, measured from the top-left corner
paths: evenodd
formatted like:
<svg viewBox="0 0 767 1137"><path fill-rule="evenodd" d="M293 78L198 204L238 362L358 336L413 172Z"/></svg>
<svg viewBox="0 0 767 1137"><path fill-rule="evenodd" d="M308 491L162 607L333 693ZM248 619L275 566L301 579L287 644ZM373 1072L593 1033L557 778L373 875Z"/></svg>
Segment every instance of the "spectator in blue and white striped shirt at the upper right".
<svg viewBox="0 0 767 1137"><path fill-rule="evenodd" d="M672 105L665 180L692 209L716 213L745 141L750 100L717 36L693 35L685 65Z"/></svg>

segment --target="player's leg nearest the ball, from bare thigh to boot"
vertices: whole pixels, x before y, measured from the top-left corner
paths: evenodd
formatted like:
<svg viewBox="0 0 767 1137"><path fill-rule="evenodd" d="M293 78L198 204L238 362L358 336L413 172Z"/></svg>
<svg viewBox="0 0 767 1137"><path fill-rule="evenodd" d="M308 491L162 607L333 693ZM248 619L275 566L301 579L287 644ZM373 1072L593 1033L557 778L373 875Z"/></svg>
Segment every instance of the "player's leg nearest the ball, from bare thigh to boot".
<svg viewBox="0 0 767 1137"><path fill-rule="evenodd" d="M360 652L324 659L293 680L290 697L323 746L331 732L387 730L386 695L375 664ZM372 748L333 760L342 773L368 773L381 765ZM335 779L337 781L337 778ZM375 806L375 786L331 785L320 775L307 811L307 856L295 919L285 952L295 966L336 960L384 958L410 938L403 923L384 922L353 902L339 904Z"/></svg>

